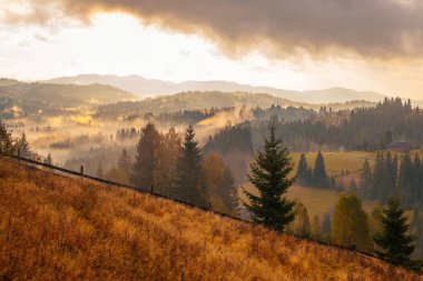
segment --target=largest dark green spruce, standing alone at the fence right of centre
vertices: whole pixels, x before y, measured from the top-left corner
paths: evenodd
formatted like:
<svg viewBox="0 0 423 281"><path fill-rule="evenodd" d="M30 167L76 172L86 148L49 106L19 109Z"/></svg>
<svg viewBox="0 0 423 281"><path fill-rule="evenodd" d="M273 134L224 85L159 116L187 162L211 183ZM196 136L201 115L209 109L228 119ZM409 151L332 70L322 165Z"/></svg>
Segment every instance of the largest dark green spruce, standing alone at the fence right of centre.
<svg viewBox="0 0 423 281"><path fill-rule="evenodd" d="M249 200L245 203L253 220L276 231L283 231L294 220L294 202L286 198L288 188L294 183L291 178L293 163L287 148L276 138L276 123L269 123L269 139L265 138L263 151L258 151L250 163L249 182L257 189L258 195L246 191Z"/></svg>

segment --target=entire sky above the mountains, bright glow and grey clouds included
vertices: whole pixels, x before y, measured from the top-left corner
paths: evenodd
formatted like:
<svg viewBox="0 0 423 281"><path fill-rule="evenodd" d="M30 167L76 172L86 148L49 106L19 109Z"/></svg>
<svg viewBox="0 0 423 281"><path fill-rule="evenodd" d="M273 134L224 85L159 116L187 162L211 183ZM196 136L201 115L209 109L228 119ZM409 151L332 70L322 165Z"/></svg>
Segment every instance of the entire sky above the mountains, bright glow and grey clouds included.
<svg viewBox="0 0 423 281"><path fill-rule="evenodd" d="M0 77L344 87L423 99L417 0L0 0Z"/></svg>

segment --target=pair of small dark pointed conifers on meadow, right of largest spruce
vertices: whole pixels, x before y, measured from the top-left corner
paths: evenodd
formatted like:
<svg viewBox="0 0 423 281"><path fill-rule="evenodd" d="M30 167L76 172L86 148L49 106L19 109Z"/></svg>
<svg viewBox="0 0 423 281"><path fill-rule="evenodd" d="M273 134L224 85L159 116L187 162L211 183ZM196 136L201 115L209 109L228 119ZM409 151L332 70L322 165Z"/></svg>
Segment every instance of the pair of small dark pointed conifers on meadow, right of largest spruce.
<svg viewBox="0 0 423 281"><path fill-rule="evenodd" d="M299 157L298 169L297 169L297 181L301 184L306 184L316 188L334 188L335 179L329 178L326 172L325 160L321 151L316 155L314 161L314 168L307 164L307 159L305 154L302 153Z"/></svg>

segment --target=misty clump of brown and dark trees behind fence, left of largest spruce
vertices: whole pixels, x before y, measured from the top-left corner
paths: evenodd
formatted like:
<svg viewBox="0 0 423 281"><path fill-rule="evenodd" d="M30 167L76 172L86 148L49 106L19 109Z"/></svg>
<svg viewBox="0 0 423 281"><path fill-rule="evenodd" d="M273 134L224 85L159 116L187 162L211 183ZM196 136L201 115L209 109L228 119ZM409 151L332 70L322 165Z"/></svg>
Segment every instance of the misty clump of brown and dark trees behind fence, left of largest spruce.
<svg viewBox="0 0 423 281"><path fill-rule="evenodd" d="M129 183L196 205L235 213L234 177L216 153L203 155L195 131L189 127L180 138L171 128L160 133L154 123L140 130L134 161L126 150L105 178Z"/></svg>

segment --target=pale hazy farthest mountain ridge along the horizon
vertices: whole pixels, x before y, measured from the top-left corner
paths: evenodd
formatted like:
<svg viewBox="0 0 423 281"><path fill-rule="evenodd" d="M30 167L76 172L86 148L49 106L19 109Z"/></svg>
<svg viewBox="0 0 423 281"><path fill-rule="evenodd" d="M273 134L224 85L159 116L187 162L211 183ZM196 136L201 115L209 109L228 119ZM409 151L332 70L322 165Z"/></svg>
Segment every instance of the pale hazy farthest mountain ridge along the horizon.
<svg viewBox="0 0 423 281"><path fill-rule="evenodd" d="M222 92L255 92L270 93L276 97L295 102L306 103L336 103L356 100L366 100L377 102L385 96L373 91L355 91L345 88L329 88L324 90L311 91L291 91L272 87L255 87L249 84L239 84L227 81L186 81L180 83L168 82L157 79L146 79L140 76L100 76L100 74L80 74L76 77L60 77L51 80L45 80L47 83L66 83L66 84L91 84L101 83L120 88L125 91L132 92L140 97L156 97L161 94L174 94L185 91L222 91Z"/></svg>

